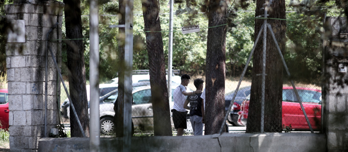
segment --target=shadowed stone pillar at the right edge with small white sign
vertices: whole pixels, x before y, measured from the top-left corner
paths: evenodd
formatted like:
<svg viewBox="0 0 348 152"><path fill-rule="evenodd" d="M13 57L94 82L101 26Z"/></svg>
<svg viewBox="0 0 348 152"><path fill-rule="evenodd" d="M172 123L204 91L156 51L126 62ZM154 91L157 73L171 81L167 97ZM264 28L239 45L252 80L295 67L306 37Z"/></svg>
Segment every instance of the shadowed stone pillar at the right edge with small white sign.
<svg viewBox="0 0 348 152"><path fill-rule="evenodd" d="M345 17L329 17L324 40L323 124L327 151L348 151L348 38ZM328 32L330 33L330 32Z"/></svg>

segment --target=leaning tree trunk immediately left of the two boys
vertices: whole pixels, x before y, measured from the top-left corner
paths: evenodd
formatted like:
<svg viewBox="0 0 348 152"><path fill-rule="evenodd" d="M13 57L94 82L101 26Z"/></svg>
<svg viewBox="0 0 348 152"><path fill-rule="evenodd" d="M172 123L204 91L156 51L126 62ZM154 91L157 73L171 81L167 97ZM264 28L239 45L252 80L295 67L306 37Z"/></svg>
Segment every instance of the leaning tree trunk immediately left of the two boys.
<svg viewBox="0 0 348 152"><path fill-rule="evenodd" d="M161 31L159 1L142 1L145 31ZM155 136L172 136L161 32L146 32Z"/></svg>

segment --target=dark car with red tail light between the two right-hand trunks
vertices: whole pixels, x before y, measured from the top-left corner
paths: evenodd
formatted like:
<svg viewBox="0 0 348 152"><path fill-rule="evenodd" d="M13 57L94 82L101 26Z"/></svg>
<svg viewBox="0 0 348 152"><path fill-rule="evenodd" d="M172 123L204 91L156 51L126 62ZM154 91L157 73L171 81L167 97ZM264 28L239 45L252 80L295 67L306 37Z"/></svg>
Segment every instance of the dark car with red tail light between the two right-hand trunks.
<svg viewBox="0 0 348 152"><path fill-rule="evenodd" d="M243 126L240 123L237 123L238 120L238 111L240 111L240 104L246 99L246 97L250 94L250 88L251 86L245 86L240 87L238 89L236 98L233 102L233 105L231 107L231 111L229 111L228 119L227 121L234 125L234 126ZM227 111L229 108L229 105L231 103L231 100L233 98L235 91L229 92L225 94L225 110Z"/></svg>

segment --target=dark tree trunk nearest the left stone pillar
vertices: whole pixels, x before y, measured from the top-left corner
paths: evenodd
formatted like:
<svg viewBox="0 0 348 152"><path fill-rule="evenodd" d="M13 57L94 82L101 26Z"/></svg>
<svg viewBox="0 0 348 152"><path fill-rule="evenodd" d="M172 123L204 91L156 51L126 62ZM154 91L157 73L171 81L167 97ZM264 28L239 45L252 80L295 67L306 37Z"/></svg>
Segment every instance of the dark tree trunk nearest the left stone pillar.
<svg viewBox="0 0 348 152"><path fill-rule="evenodd" d="M85 134L89 133L87 108L84 45L82 41L82 24L80 0L64 0L65 28L67 39L66 54L69 69L69 89L73 103ZM76 117L70 106L71 137L83 137Z"/></svg>

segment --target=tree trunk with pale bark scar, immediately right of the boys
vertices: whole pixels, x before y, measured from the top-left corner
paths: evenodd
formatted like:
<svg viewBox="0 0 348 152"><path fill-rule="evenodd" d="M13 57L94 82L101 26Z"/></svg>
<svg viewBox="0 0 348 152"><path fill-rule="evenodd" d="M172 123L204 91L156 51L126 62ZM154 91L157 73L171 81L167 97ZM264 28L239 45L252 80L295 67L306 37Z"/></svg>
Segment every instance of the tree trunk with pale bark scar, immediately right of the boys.
<svg viewBox="0 0 348 152"><path fill-rule="evenodd" d="M205 135L219 133L225 123L226 1L210 0L208 17Z"/></svg>

